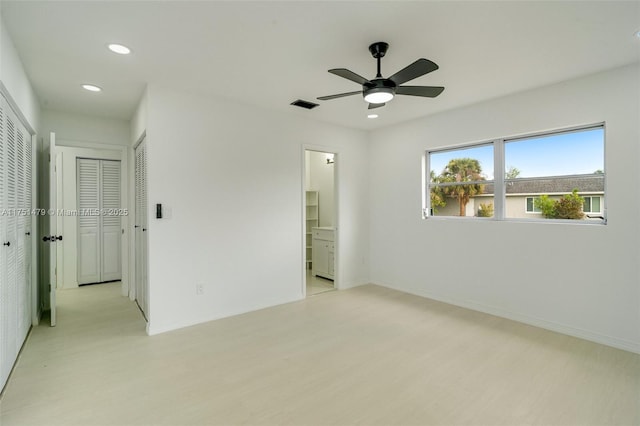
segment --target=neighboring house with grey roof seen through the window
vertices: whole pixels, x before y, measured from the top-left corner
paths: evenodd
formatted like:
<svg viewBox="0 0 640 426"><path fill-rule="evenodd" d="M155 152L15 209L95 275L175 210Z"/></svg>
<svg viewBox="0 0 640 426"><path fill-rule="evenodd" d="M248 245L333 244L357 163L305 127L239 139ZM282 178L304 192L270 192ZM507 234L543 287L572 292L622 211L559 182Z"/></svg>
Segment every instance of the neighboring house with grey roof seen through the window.
<svg viewBox="0 0 640 426"><path fill-rule="evenodd" d="M546 178L522 178L506 184L505 217L542 218L534 206L534 199L546 194L558 199L574 189L585 199L583 211L587 218L599 218L604 213L604 175L552 176ZM467 216L477 216L481 204L493 204L493 184L484 187L484 193L472 197L466 207ZM435 216L458 216L458 201L448 198L447 205L439 207Z"/></svg>

